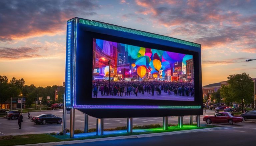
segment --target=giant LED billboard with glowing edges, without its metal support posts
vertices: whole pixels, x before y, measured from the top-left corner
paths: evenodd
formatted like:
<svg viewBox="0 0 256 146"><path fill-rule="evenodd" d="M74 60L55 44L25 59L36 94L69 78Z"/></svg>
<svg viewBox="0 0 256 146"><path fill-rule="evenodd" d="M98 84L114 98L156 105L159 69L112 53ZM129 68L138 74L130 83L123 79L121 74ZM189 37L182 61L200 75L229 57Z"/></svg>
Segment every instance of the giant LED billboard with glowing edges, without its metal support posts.
<svg viewBox="0 0 256 146"><path fill-rule="evenodd" d="M68 108L97 118L202 114L200 44L82 18L67 21L66 40Z"/></svg>

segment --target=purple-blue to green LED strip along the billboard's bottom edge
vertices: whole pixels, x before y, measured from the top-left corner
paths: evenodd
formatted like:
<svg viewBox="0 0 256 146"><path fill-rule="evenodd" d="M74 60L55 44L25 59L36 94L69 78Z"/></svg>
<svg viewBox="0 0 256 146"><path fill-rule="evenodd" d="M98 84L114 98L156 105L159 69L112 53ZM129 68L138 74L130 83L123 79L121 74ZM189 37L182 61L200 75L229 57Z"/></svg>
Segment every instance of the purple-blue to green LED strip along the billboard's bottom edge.
<svg viewBox="0 0 256 146"><path fill-rule="evenodd" d="M76 105L74 108L89 108L89 109L104 109L104 108L119 108L119 109L201 109L200 105L194 106L161 106L161 105Z"/></svg>

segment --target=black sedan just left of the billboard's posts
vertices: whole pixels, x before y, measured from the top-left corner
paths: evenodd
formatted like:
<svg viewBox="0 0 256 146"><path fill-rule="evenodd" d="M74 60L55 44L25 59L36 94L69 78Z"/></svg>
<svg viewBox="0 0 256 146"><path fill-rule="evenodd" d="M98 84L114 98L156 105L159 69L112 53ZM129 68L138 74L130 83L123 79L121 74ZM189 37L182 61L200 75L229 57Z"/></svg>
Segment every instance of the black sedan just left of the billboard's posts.
<svg viewBox="0 0 256 146"><path fill-rule="evenodd" d="M46 124L46 123L58 123L60 124L62 122L62 118L55 116L53 114L41 114L36 117L32 117L32 122L36 124Z"/></svg>

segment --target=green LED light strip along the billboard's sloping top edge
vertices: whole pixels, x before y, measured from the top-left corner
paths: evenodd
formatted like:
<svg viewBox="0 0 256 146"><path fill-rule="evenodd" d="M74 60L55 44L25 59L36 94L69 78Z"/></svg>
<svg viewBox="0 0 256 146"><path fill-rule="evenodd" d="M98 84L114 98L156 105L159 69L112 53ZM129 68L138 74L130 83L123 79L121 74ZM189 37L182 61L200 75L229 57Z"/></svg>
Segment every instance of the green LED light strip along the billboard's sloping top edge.
<svg viewBox="0 0 256 146"><path fill-rule="evenodd" d="M116 25L111 25L111 24L106 24L106 23L101 23L101 22L96 22L96 21L91 21L91 20L86 20L86 19L81 19L81 18L79 18L78 23L118 30L118 31L122 31L122 32L142 35L142 36L156 38L156 39L162 39L162 40L176 42L176 43L194 46L194 47L198 47L198 48L201 47L200 44L187 42L184 40L179 40L179 39L175 39L175 38L171 38L171 37L167 37L167 36L157 35L157 34L153 34L153 33L143 32L143 31L139 31L139 30L135 30L135 29L125 28L125 27L121 27L121 26L116 26Z"/></svg>

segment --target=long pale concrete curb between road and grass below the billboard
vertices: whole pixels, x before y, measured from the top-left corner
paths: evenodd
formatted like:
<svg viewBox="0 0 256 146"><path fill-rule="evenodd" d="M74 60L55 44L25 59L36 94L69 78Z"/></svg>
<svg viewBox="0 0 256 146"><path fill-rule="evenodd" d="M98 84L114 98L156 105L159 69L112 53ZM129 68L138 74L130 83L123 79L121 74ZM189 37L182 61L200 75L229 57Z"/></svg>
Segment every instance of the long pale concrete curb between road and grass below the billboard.
<svg viewBox="0 0 256 146"><path fill-rule="evenodd" d="M139 134L139 135L129 135L129 136L116 136L116 137L84 139L84 140L48 142L48 143L17 145L17 146L53 146L53 145L87 143L87 142L106 141L106 140L128 139L128 138L143 138L143 137L155 137L155 136L164 136L164 135L175 135L175 134L211 131L211 130L227 129L227 128L234 128L234 127L222 126L222 127L205 128L205 129L192 129L192 130L182 130L182 131L174 131L174 132L162 132L162 133L150 133L150 134Z"/></svg>

